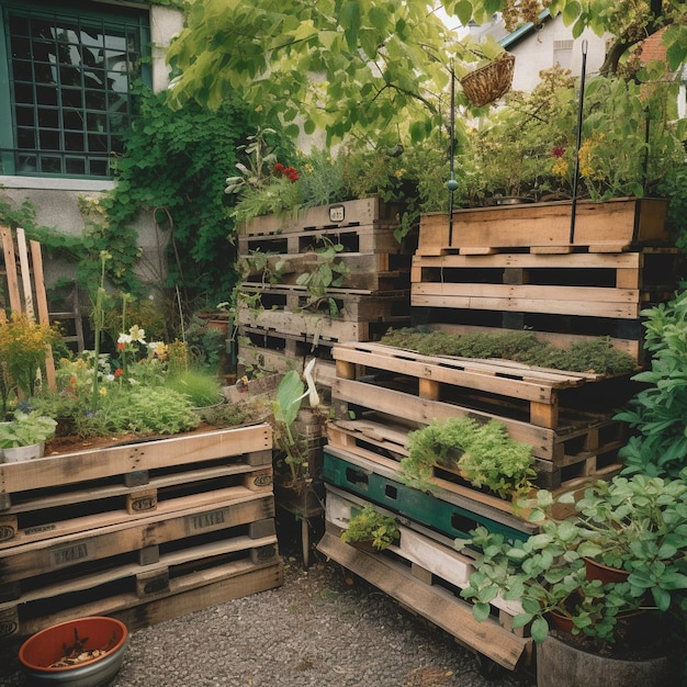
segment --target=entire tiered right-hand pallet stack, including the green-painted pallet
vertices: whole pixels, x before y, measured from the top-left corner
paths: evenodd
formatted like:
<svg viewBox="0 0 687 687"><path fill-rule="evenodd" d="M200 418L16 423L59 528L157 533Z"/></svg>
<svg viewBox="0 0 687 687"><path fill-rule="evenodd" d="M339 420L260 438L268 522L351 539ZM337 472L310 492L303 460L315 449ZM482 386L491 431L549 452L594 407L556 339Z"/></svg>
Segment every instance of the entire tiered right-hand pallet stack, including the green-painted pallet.
<svg viewBox="0 0 687 687"><path fill-rule="evenodd" d="M562 346L609 336L640 363L640 312L669 297L679 260L666 244L664 204L628 200L608 209L610 218L601 204L579 203L574 235L570 204L459 211L451 223L443 215L423 217L412 270L416 313L430 328L455 334L533 329ZM634 393L629 375L423 356L350 340L336 344L333 358L327 531L319 549L500 665L526 662L531 645L527 632L513 631L514 608L496 599L489 622L474 623L460 598L472 568L457 560L452 542L475 526L510 540L536 528L510 503L439 465L431 494L409 487L399 470L408 432L435 418L497 419L531 447L538 486L575 492L621 469L626 428L613 416ZM397 545L375 554L340 541L364 504L401 522ZM567 515L563 506L554 513Z"/></svg>

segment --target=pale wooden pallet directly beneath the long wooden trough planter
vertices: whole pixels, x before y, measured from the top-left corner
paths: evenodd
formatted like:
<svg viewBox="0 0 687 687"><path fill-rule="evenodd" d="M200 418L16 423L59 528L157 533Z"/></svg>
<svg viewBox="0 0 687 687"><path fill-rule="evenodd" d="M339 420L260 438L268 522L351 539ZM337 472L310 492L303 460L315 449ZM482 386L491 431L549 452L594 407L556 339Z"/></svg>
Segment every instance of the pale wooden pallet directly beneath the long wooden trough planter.
<svg viewBox="0 0 687 687"><path fill-rule="evenodd" d="M643 307L669 300L678 283L677 249L474 258L416 257L413 305L637 320Z"/></svg>

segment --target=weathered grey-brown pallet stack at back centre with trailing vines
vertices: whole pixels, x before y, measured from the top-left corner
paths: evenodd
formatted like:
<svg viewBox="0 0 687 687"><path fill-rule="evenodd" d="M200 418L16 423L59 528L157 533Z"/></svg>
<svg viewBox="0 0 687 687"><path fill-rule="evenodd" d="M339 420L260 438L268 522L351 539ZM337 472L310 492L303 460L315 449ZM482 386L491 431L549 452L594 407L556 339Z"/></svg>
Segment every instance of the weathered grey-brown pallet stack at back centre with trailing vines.
<svg viewBox="0 0 687 687"><path fill-rule="evenodd" d="M316 357L317 381L329 385L334 344L375 340L390 326L409 324L412 247L394 234L399 212L371 198L312 207L296 217L256 217L243 227L241 368L283 372ZM339 250L325 264L322 250L330 246ZM314 295L297 283L333 264L347 273L338 286L320 285Z"/></svg>

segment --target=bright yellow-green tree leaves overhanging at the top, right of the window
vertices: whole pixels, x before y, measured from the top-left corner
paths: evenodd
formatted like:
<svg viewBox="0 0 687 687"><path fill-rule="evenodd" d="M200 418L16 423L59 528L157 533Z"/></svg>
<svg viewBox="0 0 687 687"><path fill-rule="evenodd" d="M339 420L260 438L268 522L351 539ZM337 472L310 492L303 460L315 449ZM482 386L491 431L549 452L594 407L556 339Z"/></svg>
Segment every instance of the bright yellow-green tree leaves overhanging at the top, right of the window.
<svg viewBox="0 0 687 687"><path fill-rule="evenodd" d="M413 139L441 124L455 49L454 34L424 2L198 0L168 59L180 74L177 102L216 108L237 92L256 113L283 117L294 136L324 128L331 142L372 132L394 145L393 123Z"/></svg>

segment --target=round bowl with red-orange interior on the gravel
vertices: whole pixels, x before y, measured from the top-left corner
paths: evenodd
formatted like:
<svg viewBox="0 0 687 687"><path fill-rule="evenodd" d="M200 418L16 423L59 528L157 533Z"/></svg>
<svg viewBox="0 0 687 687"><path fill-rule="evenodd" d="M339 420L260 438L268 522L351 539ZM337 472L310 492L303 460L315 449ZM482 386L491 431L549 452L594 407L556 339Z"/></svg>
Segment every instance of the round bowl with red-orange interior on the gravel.
<svg viewBox="0 0 687 687"><path fill-rule="evenodd" d="M82 650L103 650L100 656L65 667L50 667L65 655L65 647L82 641ZM126 626L114 618L92 616L68 620L29 638L19 650L26 683L63 687L103 687L122 666L128 642Z"/></svg>

